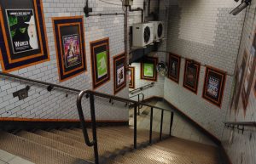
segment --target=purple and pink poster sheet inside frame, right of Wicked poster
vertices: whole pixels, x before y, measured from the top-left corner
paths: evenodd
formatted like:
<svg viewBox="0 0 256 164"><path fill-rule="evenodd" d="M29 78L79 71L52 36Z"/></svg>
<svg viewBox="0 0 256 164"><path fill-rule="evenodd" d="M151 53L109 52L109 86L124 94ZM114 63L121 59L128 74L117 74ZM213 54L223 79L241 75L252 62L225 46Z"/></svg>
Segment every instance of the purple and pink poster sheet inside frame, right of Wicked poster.
<svg viewBox="0 0 256 164"><path fill-rule="evenodd" d="M79 35L73 34L62 37L64 48L65 67L69 68L73 65L79 65L82 62L80 54Z"/></svg>

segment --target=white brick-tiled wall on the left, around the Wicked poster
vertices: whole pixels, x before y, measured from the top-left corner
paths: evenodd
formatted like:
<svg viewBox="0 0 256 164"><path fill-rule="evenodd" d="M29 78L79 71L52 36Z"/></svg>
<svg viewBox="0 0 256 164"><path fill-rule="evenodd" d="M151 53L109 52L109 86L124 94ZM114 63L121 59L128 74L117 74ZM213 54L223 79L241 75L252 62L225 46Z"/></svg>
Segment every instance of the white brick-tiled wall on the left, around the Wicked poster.
<svg viewBox="0 0 256 164"><path fill-rule="evenodd" d="M109 0L107 4L99 0L90 0L92 14L97 13L121 13L124 12L119 0ZM135 0L134 8L143 7L143 0ZM59 82L55 55L55 41L52 27L52 17L84 15L84 0L43 0L44 19L46 24L47 38L49 42L50 61L39 65L33 65L12 74L28 78L53 82L62 86L80 90L91 89L91 67L90 67L90 42L109 37L110 43L110 69L111 81L105 83L96 91L113 94L113 56L124 52L124 16L97 16L84 17L84 31L86 44L87 72L75 76L66 82ZM131 13L129 23L137 22L141 18L140 12ZM0 68L2 71L2 69ZM46 88L39 87L33 83L20 82L9 78L0 79L0 117L26 117L26 118L78 118L75 93L53 90L48 92ZM24 100L13 98L12 93L30 85L29 97ZM66 97L68 93L68 97ZM128 97L128 87L120 91L118 96ZM84 115L90 118L89 100L84 100ZM96 118L101 120L128 120L128 110L123 104L108 103L108 99L96 100Z"/></svg>

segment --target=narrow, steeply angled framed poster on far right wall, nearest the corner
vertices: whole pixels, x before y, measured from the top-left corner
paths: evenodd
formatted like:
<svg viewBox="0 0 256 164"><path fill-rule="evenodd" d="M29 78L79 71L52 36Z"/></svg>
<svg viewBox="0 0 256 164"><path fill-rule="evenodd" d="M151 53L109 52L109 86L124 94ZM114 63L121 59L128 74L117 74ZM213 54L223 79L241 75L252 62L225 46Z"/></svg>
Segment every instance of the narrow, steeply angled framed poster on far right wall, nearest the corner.
<svg viewBox="0 0 256 164"><path fill-rule="evenodd" d="M241 84L243 82L244 76L245 76L245 71L246 71L246 66L247 66L247 50L244 51L242 60L241 60L241 65L236 69L236 75L235 75L235 88L234 88L234 93L232 96L232 104L231 104L231 109L235 108L235 111L238 110L238 105L239 105L239 99L240 99L240 94L241 94Z"/></svg>

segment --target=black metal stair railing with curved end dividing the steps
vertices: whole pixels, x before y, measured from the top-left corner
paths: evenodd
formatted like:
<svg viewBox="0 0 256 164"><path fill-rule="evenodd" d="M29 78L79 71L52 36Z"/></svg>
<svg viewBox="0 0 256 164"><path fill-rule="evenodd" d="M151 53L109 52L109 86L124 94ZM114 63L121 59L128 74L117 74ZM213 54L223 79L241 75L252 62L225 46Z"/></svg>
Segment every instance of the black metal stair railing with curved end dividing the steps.
<svg viewBox="0 0 256 164"><path fill-rule="evenodd" d="M87 129L86 129L86 125L85 125L85 121L84 121L84 113L83 113L83 109L82 109L82 99L84 98L84 94L86 94L86 98L90 98L90 115L91 115L91 122L92 122L92 133L93 133L93 140L90 141L88 133L87 133ZM149 144L152 144L152 127L153 127L153 112L154 109L157 110L161 110L161 121L160 121L160 140L162 140L162 129L163 129L163 118L164 118L164 111L168 111L171 112L171 121L170 121L170 132L169 132L169 136L171 136L172 133L172 123L173 123L173 116L174 116L174 112L172 110L166 110L154 105L148 105L145 104L143 102L137 102L131 99L125 99L125 98L121 98L118 96L113 96L110 94L106 94L106 93L98 93L95 91L91 91L91 90L86 90L86 91L81 91L79 93L78 99L77 99L77 107L79 110L79 119L81 122L81 127L83 129L83 134L84 134L84 141L85 144L87 144L88 146L94 146L94 153L95 153L95 163L98 164L99 163L99 156L98 156L98 147L97 147L97 138L96 138L96 116L95 116L95 97L100 97L100 98L105 98L105 99L111 99L111 100L115 100L115 101L119 101L119 102L123 102L126 105L127 104L133 104L134 105L134 149L137 149L137 107L139 105L143 105L143 106L148 106L151 108L151 114L150 114L150 130L149 130Z"/></svg>

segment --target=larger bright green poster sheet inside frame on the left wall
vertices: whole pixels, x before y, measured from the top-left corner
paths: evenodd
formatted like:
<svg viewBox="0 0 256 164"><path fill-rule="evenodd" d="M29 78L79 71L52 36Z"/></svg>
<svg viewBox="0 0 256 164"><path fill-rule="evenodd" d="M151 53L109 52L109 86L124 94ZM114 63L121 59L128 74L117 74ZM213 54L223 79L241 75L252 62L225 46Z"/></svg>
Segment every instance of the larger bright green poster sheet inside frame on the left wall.
<svg viewBox="0 0 256 164"><path fill-rule="evenodd" d="M96 54L96 66L98 78L108 74L107 52Z"/></svg>

